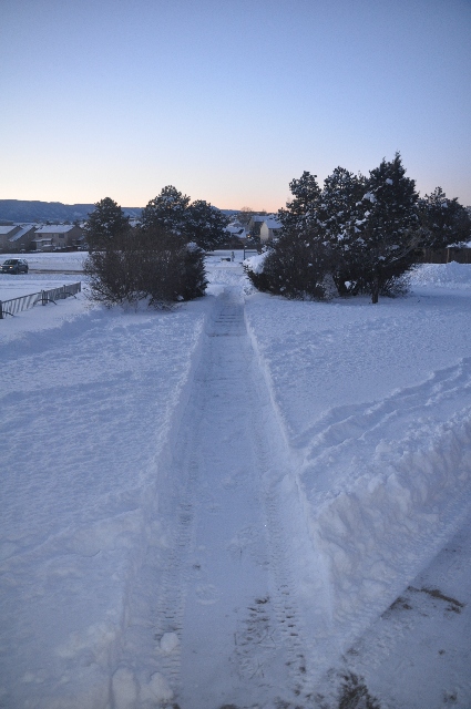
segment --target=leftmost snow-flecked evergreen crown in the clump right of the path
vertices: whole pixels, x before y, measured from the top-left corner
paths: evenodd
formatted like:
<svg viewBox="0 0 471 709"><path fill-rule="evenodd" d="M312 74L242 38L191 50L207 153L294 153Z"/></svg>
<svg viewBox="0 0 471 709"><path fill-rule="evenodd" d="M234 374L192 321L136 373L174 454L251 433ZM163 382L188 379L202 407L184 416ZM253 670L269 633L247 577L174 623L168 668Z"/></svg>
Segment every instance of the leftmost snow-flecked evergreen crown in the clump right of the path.
<svg viewBox="0 0 471 709"><path fill-rule="evenodd" d="M305 171L299 179L293 179L289 183L294 199L286 204L286 209L279 209L277 216L284 232L303 232L317 219L320 206L320 187L316 178L317 175Z"/></svg>

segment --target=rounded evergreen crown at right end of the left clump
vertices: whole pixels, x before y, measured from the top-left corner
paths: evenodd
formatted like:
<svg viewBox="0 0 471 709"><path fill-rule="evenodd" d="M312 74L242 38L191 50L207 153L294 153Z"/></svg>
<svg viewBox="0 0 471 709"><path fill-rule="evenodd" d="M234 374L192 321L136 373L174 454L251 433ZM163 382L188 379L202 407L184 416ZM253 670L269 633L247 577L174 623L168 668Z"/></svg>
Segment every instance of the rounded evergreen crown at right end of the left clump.
<svg viewBox="0 0 471 709"><path fill-rule="evenodd" d="M186 210L185 234L188 242L211 251L227 239L229 218L204 199L196 199Z"/></svg>

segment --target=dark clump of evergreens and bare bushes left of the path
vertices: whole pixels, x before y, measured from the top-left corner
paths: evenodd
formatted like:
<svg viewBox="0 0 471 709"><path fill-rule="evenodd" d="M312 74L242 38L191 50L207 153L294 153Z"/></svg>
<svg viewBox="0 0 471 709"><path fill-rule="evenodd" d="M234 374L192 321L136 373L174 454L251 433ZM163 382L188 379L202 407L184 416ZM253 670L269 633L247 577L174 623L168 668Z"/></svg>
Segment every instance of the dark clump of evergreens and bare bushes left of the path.
<svg viewBox="0 0 471 709"><path fill-rule="evenodd" d="M166 307L203 296L204 253L224 243L228 222L209 203L191 204L172 185L149 202L135 226L110 197L98 202L84 227L92 300Z"/></svg>

